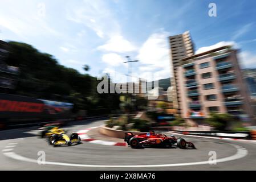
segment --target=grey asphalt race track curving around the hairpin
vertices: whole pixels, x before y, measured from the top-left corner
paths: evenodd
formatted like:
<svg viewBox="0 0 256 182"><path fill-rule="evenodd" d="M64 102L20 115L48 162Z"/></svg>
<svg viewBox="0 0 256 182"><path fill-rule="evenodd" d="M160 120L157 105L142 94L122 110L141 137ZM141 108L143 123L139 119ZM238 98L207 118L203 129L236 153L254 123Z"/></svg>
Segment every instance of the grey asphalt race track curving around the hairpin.
<svg viewBox="0 0 256 182"><path fill-rule="evenodd" d="M104 121L72 122L68 133ZM0 132L1 170L255 170L256 143L211 138L184 138L196 150L107 146L83 142L49 146L35 127ZM168 133L166 133L168 135ZM183 137L183 136L182 136ZM45 159L45 160L43 160Z"/></svg>

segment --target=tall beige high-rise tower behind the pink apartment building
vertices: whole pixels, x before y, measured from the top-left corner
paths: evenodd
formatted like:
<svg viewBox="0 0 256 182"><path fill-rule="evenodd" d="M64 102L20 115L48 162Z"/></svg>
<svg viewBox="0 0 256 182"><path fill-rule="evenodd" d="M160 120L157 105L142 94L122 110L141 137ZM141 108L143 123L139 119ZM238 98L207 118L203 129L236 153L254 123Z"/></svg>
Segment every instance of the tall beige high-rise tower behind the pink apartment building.
<svg viewBox="0 0 256 182"><path fill-rule="evenodd" d="M178 104L179 96L177 94L180 89L177 86L177 67L182 64L182 59L184 57L194 55L194 46L189 31L186 31L180 35L170 36L169 42L173 72L173 78L171 79L171 85L173 86L173 107L177 109L178 114L180 114L180 106Z"/></svg>

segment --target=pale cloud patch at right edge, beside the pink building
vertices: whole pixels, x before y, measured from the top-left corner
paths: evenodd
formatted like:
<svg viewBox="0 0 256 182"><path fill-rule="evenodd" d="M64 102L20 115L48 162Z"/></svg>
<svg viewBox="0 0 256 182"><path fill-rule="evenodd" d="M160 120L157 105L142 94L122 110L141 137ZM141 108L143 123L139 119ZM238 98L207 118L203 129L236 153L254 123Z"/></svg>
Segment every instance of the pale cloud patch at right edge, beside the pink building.
<svg viewBox="0 0 256 182"><path fill-rule="evenodd" d="M239 63L242 68L256 68L256 55L249 51L239 53Z"/></svg>

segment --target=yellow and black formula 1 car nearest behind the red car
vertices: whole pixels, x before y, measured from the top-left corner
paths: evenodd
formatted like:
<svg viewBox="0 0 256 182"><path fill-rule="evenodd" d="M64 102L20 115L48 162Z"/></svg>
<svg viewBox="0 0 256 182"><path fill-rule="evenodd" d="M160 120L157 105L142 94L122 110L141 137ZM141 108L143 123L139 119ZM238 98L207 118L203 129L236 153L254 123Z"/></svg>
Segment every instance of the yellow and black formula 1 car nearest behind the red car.
<svg viewBox="0 0 256 182"><path fill-rule="evenodd" d="M63 144L71 146L74 143L80 144L81 139L77 133L72 133L70 136L65 133L55 133L50 135L50 137L48 138L48 142L54 147L61 146Z"/></svg>

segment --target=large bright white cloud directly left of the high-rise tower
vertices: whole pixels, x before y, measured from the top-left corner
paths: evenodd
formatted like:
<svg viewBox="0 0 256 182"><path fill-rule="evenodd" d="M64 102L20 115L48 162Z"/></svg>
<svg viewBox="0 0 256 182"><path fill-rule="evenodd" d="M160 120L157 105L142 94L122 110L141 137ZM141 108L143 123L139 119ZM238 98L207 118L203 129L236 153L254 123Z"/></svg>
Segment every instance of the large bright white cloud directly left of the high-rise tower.
<svg viewBox="0 0 256 182"><path fill-rule="evenodd" d="M159 80L171 76L168 36L165 31L152 34L139 49L136 59L143 64L139 68L141 78Z"/></svg>

